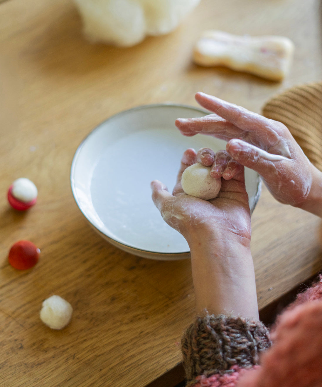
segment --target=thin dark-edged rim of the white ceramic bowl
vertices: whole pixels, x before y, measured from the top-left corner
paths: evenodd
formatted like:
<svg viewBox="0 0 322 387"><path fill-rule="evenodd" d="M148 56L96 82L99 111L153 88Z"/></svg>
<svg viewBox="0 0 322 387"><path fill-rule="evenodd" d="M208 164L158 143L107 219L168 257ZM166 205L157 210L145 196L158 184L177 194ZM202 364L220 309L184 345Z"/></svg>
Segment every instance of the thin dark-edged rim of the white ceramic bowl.
<svg viewBox="0 0 322 387"><path fill-rule="evenodd" d="M72 163L71 163L71 170L70 170L70 184L71 184L71 190L72 190L72 194L73 194L73 197L74 197L74 200L77 204L77 207L78 209L80 209L81 213L83 214L83 216L85 216L85 219L90 223L90 226L92 226L95 231L97 231L98 235L100 235L102 238L104 238L106 241L113 241L110 242L111 244L113 244L114 246L116 245L120 245L120 246L124 246L127 248L127 250L133 250L133 254L134 255L139 255L142 257L141 254L139 254L140 252L144 253L145 257L146 255L148 254L151 254L151 255L154 255L154 256L163 256L164 258L165 257L177 257L177 258L174 258L175 259L184 259L184 256L186 255L188 257L188 255L190 255L190 250L187 250L187 251L183 251L183 252L178 252L178 253L164 253L164 252L155 252L155 251L151 251L151 250L145 250L145 249L141 249L141 248L135 248L133 246L130 246L130 245L127 245L126 243L121 243L117 240L115 240L114 238L111 238L109 235L106 235L105 233L103 233L100 229L97 228L97 226L95 226L95 224L92 223L92 221L90 221L90 219L88 219L88 217L86 216L85 212L83 211L83 209L81 208L80 204L79 204L79 201L77 199L77 195L76 195L76 192L75 192L75 185L74 185L74 181L75 179L73 178L73 175L75 173L75 165L77 163L77 159L78 159L78 156L80 154L80 151L83 147L83 145L85 144L86 140L88 139L88 137L90 137L91 135L93 135L93 133L98 130L103 124L105 124L106 122L112 120L113 118L117 117L117 116L122 116L122 115L125 115L127 113L129 113L130 111L136 111L136 110L144 110L144 109L149 109L149 108L164 108L164 107L169 107L169 108L184 108L184 109L188 109L188 110L195 110L195 111L198 111L199 113L204 113L205 115L207 114L211 114L212 112L208 111L208 110L205 110L205 109L202 109L202 108L199 108L198 106L195 107L195 106L190 106L190 105L186 105L186 104L180 104L180 103L172 103L172 102L164 102L164 103L154 103L154 104L146 104L146 105L139 105L139 106L134 106L133 108L129 108L129 109L126 109L126 110L122 110L122 111L119 111L118 113L115 113L111 116L109 116L106 120L103 120L102 122L100 122L98 125L96 125L87 135L86 137L84 137L84 139L80 142L79 146L77 147L76 151L75 151L75 154L73 156L73 160L72 160ZM259 199L259 196L260 196L260 193L261 193L261 179L260 179L260 176L259 174L257 173L258 175L258 184L257 184L257 190L256 190L256 194L254 196L254 205L253 205L253 209L251 209L251 214L253 212L253 210L255 209L256 205L257 205L257 202L258 202L258 199ZM120 247L121 248L121 247ZM181 258L182 257L182 258Z"/></svg>

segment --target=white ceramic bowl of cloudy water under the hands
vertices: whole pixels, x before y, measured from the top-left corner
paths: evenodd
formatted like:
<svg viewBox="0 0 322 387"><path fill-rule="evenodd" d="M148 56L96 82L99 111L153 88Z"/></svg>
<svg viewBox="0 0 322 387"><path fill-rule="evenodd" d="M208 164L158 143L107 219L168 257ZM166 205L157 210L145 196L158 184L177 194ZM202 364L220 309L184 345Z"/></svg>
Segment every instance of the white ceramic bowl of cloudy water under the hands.
<svg viewBox="0 0 322 387"><path fill-rule="evenodd" d="M183 105L139 106L108 118L80 144L71 166L73 195L89 223L112 245L145 258L189 257L186 240L154 206L150 182L161 180L171 192L187 148L225 149L223 140L185 137L175 127L178 117L206 114ZM245 176L253 211L260 178L248 168Z"/></svg>

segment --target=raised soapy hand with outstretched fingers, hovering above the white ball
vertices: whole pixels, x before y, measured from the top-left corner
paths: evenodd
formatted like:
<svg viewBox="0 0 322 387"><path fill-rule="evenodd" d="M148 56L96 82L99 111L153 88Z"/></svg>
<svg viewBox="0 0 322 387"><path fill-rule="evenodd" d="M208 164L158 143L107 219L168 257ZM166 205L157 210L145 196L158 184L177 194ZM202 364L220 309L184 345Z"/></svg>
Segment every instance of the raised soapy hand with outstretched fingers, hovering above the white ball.
<svg viewBox="0 0 322 387"><path fill-rule="evenodd" d="M201 133L226 140L231 158L257 171L275 199L297 207L305 202L314 167L285 125L201 92L196 99L215 114L178 118L176 126L183 135ZM198 154L203 165L212 165L213 160L208 149ZM211 175L217 177L214 167Z"/></svg>

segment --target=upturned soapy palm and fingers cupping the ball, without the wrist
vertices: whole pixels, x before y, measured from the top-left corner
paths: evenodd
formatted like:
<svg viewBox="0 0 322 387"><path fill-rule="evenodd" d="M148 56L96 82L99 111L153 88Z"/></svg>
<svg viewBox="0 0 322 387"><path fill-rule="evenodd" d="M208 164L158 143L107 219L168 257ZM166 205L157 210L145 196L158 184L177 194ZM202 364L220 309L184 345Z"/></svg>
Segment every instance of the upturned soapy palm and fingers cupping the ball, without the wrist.
<svg viewBox="0 0 322 387"><path fill-rule="evenodd" d="M251 221L248 205L248 195L244 182L244 167L231 162L225 151L217 153L218 168L213 161L212 167L216 170L216 178L222 177L220 192L215 199L202 200L186 195L181 187L183 171L196 163L200 158L193 149L187 149L182 157L181 166L173 194L158 180L151 183L152 199L159 209L164 221L179 231L190 243L200 231L215 229L222 236L234 233L239 238L251 237ZM218 169L218 171L217 171ZM220 170L220 171L219 171ZM228 180L225 180L225 179Z"/></svg>

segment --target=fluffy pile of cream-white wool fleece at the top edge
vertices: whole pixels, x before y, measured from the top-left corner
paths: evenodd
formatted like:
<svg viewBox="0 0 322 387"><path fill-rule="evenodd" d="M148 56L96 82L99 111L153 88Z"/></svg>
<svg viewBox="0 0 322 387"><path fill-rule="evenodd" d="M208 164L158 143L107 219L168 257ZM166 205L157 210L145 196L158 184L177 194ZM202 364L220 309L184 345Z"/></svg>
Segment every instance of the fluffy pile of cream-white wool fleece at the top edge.
<svg viewBox="0 0 322 387"><path fill-rule="evenodd" d="M133 46L175 29L200 0L74 0L92 41Z"/></svg>

